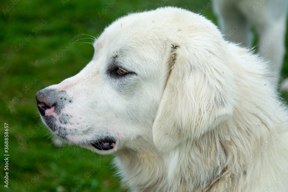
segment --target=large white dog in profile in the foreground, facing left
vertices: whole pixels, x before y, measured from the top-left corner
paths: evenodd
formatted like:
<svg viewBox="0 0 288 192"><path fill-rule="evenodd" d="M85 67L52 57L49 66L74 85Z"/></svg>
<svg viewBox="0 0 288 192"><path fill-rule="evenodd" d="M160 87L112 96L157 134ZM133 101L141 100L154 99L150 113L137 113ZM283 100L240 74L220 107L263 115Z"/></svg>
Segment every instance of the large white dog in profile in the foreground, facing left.
<svg viewBox="0 0 288 192"><path fill-rule="evenodd" d="M132 191L287 191L287 109L257 55L176 7L124 16L94 48L36 94L54 134L114 154Z"/></svg>

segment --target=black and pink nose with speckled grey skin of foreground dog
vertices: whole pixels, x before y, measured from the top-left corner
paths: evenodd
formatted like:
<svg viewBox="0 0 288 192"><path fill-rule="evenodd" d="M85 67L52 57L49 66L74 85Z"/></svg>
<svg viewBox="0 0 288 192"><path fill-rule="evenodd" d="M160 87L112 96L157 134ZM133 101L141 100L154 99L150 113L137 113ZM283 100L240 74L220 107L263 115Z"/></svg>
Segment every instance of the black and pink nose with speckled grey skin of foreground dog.
<svg viewBox="0 0 288 192"><path fill-rule="evenodd" d="M72 102L65 91L56 91L48 88L38 91L35 97L38 110L42 116L52 112L60 115L61 109L64 108L67 102Z"/></svg>

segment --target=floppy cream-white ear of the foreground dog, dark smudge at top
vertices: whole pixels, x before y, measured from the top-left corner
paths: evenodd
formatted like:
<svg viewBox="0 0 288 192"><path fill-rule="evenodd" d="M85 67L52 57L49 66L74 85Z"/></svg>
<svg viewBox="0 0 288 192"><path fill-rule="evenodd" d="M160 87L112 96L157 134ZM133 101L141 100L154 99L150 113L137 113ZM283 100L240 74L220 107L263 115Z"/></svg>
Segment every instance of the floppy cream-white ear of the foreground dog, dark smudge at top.
<svg viewBox="0 0 288 192"><path fill-rule="evenodd" d="M226 87L232 73L221 58L217 62L207 50L191 54L181 45L171 48L172 66L153 124L153 141L162 151L199 138L233 111Z"/></svg>

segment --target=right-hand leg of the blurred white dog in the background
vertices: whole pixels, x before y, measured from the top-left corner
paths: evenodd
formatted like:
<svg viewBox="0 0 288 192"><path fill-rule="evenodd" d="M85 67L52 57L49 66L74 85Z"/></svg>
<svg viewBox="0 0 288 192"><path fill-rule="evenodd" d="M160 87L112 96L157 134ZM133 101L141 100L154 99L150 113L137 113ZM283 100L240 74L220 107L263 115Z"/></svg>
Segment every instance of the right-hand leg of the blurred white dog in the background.
<svg viewBox="0 0 288 192"><path fill-rule="evenodd" d="M265 8L264 6L263 9L260 7L258 10L262 12L260 14L262 15L262 19L252 20L259 35L258 52L272 62L271 68L274 72L274 78L281 81L281 69L285 56L288 1L285 3L284 1L283 3L276 3L276 5L274 5L274 2L267 2ZM270 14L267 14L267 12L270 12Z"/></svg>

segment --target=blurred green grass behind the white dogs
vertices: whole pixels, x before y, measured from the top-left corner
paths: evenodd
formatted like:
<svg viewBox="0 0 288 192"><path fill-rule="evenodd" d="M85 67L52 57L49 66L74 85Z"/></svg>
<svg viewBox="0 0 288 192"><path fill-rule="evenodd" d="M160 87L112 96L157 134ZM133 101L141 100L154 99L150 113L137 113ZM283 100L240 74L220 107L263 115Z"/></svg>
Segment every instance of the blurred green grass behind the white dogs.
<svg viewBox="0 0 288 192"><path fill-rule="evenodd" d="M7 5L17 2L8 13ZM35 93L49 85L78 73L92 58L92 45L75 44L60 60L53 64L52 58L69 46L69 41L79 31L99 35L115 18L138 10L175 5L194 12L201 12L209 0L163 0L131 1L115 0L106 14L98 16L108 1L36 1L4 0L0 3L0 191L122 191L120 178L113 176L115 169L110 162L112 155L94 154L77 146L55 147L49 130L39 127L39 115ZM63 5L64 3L64 5ZM12 5L11 5L12 6ZM207 7L206 7L207 8ZM204 15L217 24L212 7ZM33 28L48 22L37 34ZM32 39L16 51L24 38ZM83 36L86 37L86 36ZM287 38L288 39L288 38ZM90 42L82 39L81 42ZM79 45L79 46L78 46ZM286 41L287 45L287 41ZM288 74L288 58L285 56L283 77ZM39 79L29 90L32 78ZM15 96L23 94L19 101L6 109ZM14 100L15 101L15 100ZM4 176L4 123L9 124L9 188L3 185ZM33 131L34 130L34 131ZM24 139L24 140L23 140ZM19 146L19 143L24 143ZM59 155L59 156L57 156ZM57 157L57 158L56 158ZM99 168L91 176L94 164ZM92 171L93 172L93 171ZM41 175L34 183L35 174ZM82 181L82 183L81 183ZM84 181L84 182L83 182ZM30 185L29 182L34 183ZM31 184L32 184L31 183ZM80 187L77 187L81 183Z"/></svg>

